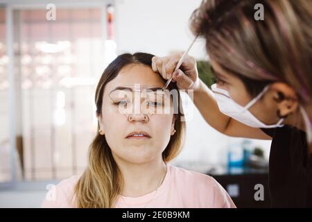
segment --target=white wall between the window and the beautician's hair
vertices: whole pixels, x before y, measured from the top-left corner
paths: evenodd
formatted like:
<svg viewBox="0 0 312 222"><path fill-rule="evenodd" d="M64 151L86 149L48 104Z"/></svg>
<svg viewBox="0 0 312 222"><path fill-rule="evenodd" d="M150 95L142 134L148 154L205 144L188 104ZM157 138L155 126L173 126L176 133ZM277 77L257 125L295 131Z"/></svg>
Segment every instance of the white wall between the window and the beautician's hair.
<svg viewBox="0 0 312 222"><path fill-rule="evenodd" d="M189 17L201 0L116 0L115 35L119 53L145 51L167 56L184 51L193 40ZM191 49L196 58L205 57L198 41Z"/></svg>

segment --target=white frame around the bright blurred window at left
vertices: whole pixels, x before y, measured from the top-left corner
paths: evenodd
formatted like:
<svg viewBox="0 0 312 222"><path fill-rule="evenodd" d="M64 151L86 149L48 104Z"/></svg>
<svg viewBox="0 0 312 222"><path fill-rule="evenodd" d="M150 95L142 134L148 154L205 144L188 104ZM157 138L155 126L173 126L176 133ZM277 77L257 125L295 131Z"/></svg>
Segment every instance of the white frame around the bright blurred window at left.
<svg viewBox="0 0 312 222"><path fill-rule="evenodd" d="M0 191L4 190L46 190L48 185L56 185L59 180L45 180L45 181L19 181L17 180L17 166L15 160L17 157L16 151L16 128L15 128L15 66L13 64L14 49L14 27L13 27L13 11L14 10L26 10L26 9L46 9L48 3L54 3L57 8L100 8L101 9L101 26L102 26L102 38L103 43L106 40L106 7L107 5L114 5L114 0L0 0L0 6L6 10L6 43L7 43L7 55L8 62L8 81L9 81L9 122L10 126L8 132L10 132L10 167L11 167L11 180L10 182L0 182Z"/></svg>

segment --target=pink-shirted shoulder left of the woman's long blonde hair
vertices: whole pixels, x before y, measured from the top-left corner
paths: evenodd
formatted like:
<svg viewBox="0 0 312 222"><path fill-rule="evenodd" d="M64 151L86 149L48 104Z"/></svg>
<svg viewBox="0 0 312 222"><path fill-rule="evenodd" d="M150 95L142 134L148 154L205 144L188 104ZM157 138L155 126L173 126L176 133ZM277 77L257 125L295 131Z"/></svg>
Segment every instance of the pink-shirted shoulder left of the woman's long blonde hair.
<svg viewBox="0 0 312 222"><path fill-rule="evenodd" d="M71 176L51 185L41 207L76 207L74 189L78 180L78 176Z"/></svg>

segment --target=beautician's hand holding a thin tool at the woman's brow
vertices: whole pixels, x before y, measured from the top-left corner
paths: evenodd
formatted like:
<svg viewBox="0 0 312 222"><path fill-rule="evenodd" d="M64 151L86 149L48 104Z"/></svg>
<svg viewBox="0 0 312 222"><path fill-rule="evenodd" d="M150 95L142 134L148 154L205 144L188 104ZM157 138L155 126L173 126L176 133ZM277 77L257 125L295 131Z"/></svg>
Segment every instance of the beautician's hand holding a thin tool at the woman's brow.
<svg viewBox="0 0 312 222"><path fill-rule="evenodd" d="M198 71L195 58L187 55L180 66L175 71L177 62L179 62L183 53L177 53L173 56L157 57L152 59L152 69L162 75L164 79L173 76L173 82L177 82L179 89L198 89L200 87Z"/></svg>

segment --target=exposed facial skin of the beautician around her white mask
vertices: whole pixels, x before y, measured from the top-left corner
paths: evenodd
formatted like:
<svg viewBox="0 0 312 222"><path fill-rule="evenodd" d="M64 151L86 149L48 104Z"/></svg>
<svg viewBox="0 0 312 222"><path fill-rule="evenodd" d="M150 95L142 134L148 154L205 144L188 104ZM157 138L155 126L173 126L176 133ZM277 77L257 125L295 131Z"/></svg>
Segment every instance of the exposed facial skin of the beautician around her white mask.
<svg viewBox="0 0 312 222"><path fill-rule="evenodd" d="M233 101L244 107L252 99L254 99L248 93L241 79L229 74L213 60L211 60L211 67L213 68L214 74L217 78L217 87L227 90ZM275 97L276 94L274 91L268 90L268 92L266 92L266 94L264 94L263 97L257 101L257 103L254 103L254 105L249 108L249 111L263 123L268 125L277 123L277 121L279 121L279 117L277 117L278 107Z"/></svg>

